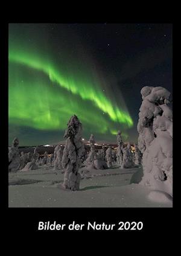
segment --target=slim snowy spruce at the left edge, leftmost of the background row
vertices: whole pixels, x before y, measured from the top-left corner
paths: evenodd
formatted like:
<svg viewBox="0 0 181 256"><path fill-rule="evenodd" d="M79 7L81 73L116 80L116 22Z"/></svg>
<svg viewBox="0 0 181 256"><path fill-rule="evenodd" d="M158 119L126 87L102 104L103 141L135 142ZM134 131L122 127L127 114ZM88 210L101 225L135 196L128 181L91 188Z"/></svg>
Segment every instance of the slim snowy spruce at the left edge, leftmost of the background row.
<svg viewBox="0 0 181 256"><path fill-rule="evenodd" d="M19 155L19 139L13 139L13 145L10 147L8 152L8 170L17 171L20 167L20 155Z"/></svg>

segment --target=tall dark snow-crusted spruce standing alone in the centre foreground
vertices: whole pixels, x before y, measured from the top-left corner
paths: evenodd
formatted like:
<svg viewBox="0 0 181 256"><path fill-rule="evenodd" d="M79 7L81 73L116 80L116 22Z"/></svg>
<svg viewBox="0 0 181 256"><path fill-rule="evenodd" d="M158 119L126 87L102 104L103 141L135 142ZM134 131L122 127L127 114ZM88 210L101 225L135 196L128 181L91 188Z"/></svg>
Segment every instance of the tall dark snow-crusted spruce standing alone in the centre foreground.
<svg viewBox="0 0 181 256"><path fill-rule="evenodd" d="M80 185L81 156L83 154L82 124L76 115L68 122L65 131L65 148L63 150L62 167L65 169L63 187L69 190L78 190Z"/></svg>

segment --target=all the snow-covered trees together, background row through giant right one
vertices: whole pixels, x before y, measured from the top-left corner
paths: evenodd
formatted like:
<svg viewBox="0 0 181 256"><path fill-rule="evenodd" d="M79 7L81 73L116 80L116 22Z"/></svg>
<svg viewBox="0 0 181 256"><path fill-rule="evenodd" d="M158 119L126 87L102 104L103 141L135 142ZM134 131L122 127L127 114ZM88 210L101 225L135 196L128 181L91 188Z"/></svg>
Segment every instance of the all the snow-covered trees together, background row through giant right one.
<svg viewBox="0 0 181 256"><path fill-rule="evenodd" d="M141 184L154 190L173 194L173 117L170 92L162 87L145 86L141 89L142 104L139 109L138 144L132 152L130 143L122 141L121 131L116 135L117 150L103 146L95 149L94 135L90 135L90 151L87 155L82 141L82 124L73 115L65 131L65 147L57 145L54 153L44 153L40 158L37 147L34 152L19 154L19 140L14 138L8 152L9 171L36 170L39 165L48 165L54 170L62 170L64 181L62 187L78 190L81 176L79 169L106 169L113 165L121 168L133 168L141 165L144 170Z"/></svg>

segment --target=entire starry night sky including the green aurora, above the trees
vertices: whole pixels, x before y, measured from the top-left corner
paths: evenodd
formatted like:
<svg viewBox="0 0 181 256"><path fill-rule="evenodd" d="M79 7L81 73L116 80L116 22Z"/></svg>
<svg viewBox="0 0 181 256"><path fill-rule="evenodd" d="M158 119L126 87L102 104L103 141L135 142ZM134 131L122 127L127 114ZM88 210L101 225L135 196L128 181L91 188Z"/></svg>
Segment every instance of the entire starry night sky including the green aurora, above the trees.
<svg viewBox="0 0 181 256"><path fill-rule="evenodd" d="M141 88L172 93L171 24L10 24L9 144L63 140L69 118L83 137L137 142Z"/></svg>

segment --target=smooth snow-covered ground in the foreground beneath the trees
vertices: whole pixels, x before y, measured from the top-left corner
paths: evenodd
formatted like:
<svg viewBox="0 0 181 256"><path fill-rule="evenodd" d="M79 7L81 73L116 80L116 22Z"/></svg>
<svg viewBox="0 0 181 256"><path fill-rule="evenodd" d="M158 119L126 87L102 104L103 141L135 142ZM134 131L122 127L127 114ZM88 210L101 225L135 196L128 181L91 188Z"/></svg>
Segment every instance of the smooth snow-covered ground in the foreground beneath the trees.
<svg viewBox="0 0 181 256"><path fill-rule="evenodd" d="M171 200L155 202L150 190L130 184L140 168L86 170L81 168L80 190L57 187L63 173L52 167L9 173L9 207L172 207ZM154 196L155 197L155 196Z"/></svg>

